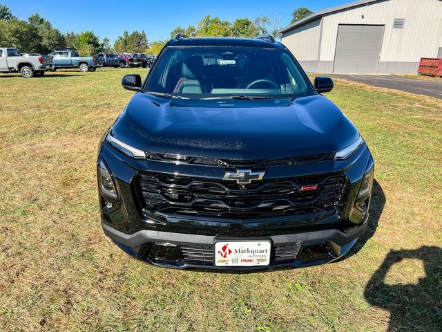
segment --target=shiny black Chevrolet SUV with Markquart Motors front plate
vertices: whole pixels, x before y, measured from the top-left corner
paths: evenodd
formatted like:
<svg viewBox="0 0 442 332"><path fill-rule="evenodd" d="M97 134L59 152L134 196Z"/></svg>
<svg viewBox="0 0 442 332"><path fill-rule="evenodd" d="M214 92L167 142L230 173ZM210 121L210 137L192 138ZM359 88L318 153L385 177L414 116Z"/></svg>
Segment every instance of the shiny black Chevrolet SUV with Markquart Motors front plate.
<svg viewBox="0 0 442 332"><path fill-rule="evenodd" d="M207 59L210 59L208 61ZM285 46L164 46L97 159L104 233L155 266L256 270L338 259L364 232L374 162Z"/></svg>

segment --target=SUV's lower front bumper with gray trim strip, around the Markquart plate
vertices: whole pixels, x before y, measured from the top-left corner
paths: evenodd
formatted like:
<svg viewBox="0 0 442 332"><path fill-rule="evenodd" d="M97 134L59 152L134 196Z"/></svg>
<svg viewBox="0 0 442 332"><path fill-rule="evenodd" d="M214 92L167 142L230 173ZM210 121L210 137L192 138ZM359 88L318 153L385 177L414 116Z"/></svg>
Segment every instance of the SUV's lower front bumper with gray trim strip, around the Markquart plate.
<svg viewBox="0 0 442 332"><path fill-rule="evenodd" d="M213 264L216 237L209 235L140 230L125 234L102 223L106 236L128 255L154 266L166 268L204 268L209 270L263 270L269 268L300 268L329 263L345 255L358 237L365 232L367 222L351 232L319 230L294 234L272 235L271 261L268 266L232 267ZM229 240L243 237L229 237ZM253 239L253 238L252 238ZM190 253L189 253L190 252Z"/></svg>

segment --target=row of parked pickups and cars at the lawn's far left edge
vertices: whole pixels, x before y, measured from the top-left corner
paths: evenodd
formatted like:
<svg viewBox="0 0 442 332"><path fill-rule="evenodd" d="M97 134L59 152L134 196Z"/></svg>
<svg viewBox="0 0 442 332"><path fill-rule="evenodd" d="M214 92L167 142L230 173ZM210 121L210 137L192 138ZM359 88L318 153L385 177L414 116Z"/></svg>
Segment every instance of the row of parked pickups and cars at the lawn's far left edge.
<svg viewBox="0 0 442 332"><path fill-rule="evenodd" d="M150 68L155 55L144 53L99 53L97 57L80 57L77 50L55 50L50 55L20 53L17 48L0 48L0 73L21 73L25 78L41 77L45 71L79 68L86 73L102 66Z"/></svg>

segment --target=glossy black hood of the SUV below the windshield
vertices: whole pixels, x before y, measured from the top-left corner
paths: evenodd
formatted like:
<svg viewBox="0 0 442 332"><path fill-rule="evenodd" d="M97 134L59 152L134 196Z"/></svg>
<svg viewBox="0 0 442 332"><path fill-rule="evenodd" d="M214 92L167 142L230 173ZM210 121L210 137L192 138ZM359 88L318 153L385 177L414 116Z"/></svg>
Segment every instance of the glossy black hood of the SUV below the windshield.
<svg viewBox="0 0 442 332"><path fill-rule="evenodd" d="M136 93L113 136L155 153L229 159L339 151L354 124L323 95L292 100L184 100Z"/></svg>

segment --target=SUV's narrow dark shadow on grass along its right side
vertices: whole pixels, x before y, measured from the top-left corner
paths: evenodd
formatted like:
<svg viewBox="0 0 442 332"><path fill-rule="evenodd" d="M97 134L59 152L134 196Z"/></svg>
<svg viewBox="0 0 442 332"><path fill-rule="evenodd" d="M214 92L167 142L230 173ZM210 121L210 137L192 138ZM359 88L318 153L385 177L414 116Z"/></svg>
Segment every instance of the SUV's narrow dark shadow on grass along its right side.
<svg viewBox="0 0 442 332"><path fill-rule="evenodd" d="M376 181L373 182L373 194L372 201L370 203L369 217L367 223L367 229L364 234L359 237L358 241L354 244L353 248L349 250L347 255L343 259L347 259L356 255L365 246L365 243L371 239L378 228L379 219L381 219L381 214L385 206L385 194L382 190L381 185ZM338 259L340 261L340 259Z"/></svg>

